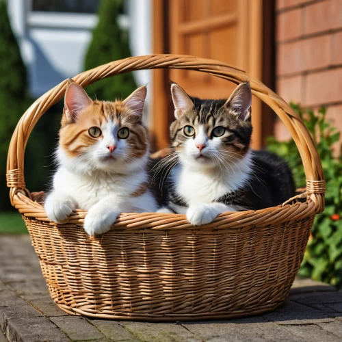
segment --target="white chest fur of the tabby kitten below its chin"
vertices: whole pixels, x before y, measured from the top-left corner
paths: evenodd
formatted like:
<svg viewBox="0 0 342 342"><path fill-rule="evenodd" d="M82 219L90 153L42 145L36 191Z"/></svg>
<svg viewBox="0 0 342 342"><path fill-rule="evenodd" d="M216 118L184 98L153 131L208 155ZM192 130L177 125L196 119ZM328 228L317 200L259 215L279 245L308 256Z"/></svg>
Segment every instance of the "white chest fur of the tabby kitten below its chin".
<svg viewBox="0 0 342 342"><path fill-rule="evenodd" d="M187 205L211 203L243 187L252 172L252 161L246 156L226 168L187 168L179 165L172 170L171 178L176 193Z"/></svg>

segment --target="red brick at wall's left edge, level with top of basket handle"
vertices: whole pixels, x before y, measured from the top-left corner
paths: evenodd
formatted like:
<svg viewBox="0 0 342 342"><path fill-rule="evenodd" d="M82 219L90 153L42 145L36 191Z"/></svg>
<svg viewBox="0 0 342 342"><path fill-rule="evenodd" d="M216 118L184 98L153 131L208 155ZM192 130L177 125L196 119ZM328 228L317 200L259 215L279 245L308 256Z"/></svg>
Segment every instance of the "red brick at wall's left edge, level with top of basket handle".
<svg viewBox="0 0 342 342"><path fill-rule="evenodd" d="M278 75L324 68L330 64L330 35L280 44L277 51Z"/></svg>

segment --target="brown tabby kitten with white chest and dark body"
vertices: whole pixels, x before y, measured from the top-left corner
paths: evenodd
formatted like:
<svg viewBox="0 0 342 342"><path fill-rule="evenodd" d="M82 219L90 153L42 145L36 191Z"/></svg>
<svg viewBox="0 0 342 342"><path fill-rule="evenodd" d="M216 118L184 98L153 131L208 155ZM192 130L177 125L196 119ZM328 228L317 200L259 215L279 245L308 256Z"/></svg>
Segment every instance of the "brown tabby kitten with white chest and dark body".
<svg viewBox="0 0 342 342"><path fill-rule="evenodd" d="M225 211L273 207L294 196L287 163L250 148L248 82L237 86L227 101L190 97L176 83L171 93L176 120L170 131L176 152L164 160L164 171L172 171L168 205L160 212L186 213L198 226Z"/></svg>

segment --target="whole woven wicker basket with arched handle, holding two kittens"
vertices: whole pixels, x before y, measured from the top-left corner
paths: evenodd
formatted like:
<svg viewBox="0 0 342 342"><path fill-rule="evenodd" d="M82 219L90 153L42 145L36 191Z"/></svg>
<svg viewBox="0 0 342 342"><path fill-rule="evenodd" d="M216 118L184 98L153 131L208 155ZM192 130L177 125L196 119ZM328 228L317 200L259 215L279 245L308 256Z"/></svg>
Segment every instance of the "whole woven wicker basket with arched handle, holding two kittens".
<svg viewBox="0 0 342 342"><path fill-rule="evenodd" d="M287 298L316 213L324 210L321 161L302 120L260 81L227 64L183 55L148 55L111 62L73 79L90 83L132 70L198 70L252 93L289 129L306 173L301 202L219 215L194 227L185 215L122 213L111 231L89 237L86 211L51 222L41 193L25 188L24 152L34 125L64 96L68 81L38 98L18 122L8 153L12 205L23 215L51 297L72 315L150 321L217 319L272 311Z"/></svg>

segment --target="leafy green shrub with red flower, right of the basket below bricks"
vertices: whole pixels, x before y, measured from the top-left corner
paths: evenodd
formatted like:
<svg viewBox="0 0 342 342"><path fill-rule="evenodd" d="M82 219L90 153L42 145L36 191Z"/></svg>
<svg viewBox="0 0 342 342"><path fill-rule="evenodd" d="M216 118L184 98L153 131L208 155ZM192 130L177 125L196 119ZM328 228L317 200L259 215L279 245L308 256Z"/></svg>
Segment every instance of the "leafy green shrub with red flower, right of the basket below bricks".
<svg viewBox="0 0 342 342"><path fill-rule="evenodd" d="M316 215L300 274L342 287L342 158L334 157L332 145L340 133L326 120L326 110L317 112L291 104L301 116L317 146L326 178L326 209ZM285 158L293 170L297 187L305 187L305 174L300 154L293 140L278 142L274 137L267 148Z"/></svg>

